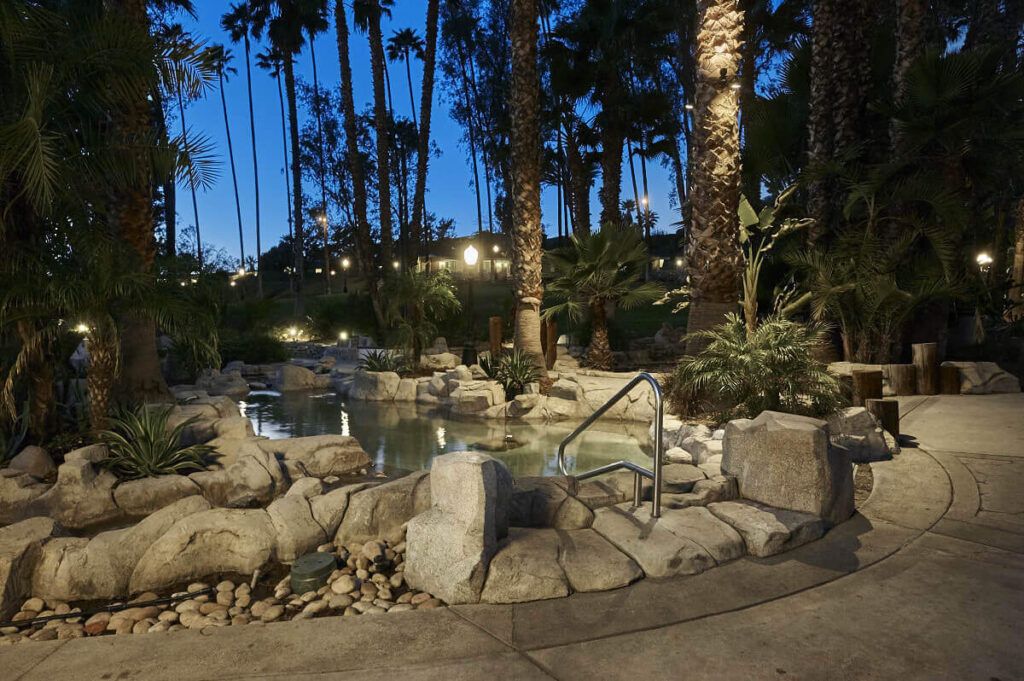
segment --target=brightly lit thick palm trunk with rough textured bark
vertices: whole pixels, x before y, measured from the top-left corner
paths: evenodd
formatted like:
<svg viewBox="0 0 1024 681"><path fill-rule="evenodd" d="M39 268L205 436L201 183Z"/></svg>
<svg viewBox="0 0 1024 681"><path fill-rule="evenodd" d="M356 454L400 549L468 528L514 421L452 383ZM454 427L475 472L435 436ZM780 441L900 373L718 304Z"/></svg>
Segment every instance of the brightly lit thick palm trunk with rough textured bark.
<svg viewBox="0 0 1024 681"><path fill-rule="evenodd" d="M743 13L735 0L700 0L696 43L692 224L686 253L691 287L687 332L735 311L739 251L739 93ZM687 351L699 350L689 341Z"/></svg>

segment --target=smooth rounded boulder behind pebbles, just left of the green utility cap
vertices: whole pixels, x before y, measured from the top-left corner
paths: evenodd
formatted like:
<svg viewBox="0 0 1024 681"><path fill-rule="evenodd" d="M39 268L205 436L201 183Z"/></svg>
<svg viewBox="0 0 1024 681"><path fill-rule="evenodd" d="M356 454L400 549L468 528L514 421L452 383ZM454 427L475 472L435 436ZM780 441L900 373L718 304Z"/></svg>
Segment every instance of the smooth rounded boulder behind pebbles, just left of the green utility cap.
<svg viewBox="0 0 1024 681"><path fill-rule="evenodd" d="M251 574L272 557L273 522L262 509L211 509L176 522L138 561L131 593L214 574Z"/></svg>

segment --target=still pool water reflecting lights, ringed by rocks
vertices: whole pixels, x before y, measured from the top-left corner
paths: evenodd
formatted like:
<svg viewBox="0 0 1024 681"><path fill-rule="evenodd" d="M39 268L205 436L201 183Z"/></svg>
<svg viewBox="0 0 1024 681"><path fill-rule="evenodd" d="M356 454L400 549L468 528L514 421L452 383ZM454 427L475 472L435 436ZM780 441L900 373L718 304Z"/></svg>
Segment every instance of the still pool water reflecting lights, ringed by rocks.
<svg viewBox="0 0 1024 681"><path fill-rule="evenodd" d="M239 407L257 435L351 435L383 471L429 469L438 455L478 451L504 461L513 475L557 475L558 444L578 425L455 419L421 405L349 401L334 392L257 391ZM598 421L569 444L566 463L569 470L620 459L648 465L649 439L645 423Z"/></svg>

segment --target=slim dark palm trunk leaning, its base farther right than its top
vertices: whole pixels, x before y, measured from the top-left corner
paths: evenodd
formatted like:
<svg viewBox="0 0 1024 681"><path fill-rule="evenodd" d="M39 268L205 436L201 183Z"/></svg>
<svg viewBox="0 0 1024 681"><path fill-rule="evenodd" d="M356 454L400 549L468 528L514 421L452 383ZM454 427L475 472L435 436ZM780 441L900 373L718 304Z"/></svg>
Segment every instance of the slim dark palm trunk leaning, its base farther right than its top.
<svg viewBox="0 0 1024 681"><path fill-rule="evenodd" d="M352 210L355 221L355 253L367 280L367 290L379 329L384 329L384 308L377 286L377 266L374 262L370 222L367 219L367 176L359 155L358 131L355 125L355 97L352 92L352 63L348 53L348 20L345 4L337 0L334 6L335 33L338 38L338 66L341 73L341 108L344 115L345 151L348 171L352 177Z"/></svg>

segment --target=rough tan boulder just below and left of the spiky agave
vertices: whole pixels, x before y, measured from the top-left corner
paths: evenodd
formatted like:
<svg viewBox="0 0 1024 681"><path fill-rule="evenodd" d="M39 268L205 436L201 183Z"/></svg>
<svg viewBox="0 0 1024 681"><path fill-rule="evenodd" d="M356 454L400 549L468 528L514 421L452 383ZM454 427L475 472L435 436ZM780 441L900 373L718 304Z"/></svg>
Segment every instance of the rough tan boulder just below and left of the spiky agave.
<svg viewBox="0 0 1024 681"><path fill-rule="evenodd" d="M113 473L97 470L89 461L65 461L57 468L56 483L39 496L34 506L65 527L77 529L109 522L124 515L114 503L117 482Z"/></svg>

